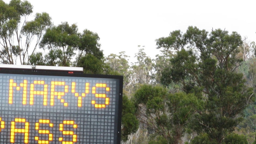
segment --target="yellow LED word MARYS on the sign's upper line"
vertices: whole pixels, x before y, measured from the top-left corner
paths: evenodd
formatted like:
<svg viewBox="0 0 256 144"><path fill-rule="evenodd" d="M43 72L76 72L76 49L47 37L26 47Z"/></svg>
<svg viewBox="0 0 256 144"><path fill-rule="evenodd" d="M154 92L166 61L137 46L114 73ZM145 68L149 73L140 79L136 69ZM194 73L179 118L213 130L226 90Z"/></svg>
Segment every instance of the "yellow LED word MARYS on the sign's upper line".
<svg viewBox="0 0 256 144"><path fill-rule="evenodd" d="M17 85L17 83L14 82L13 79L9 80L9 104L13 103L13 95L14 95L14 89L17 91L20 91L20 87L23 87L23 98L22 98L22 104L27 104L27 86L28 82L27 80L23 80L23 83L20 83L20 86ZM61 91L57 91L56 88L58 87L63 88ZM42 87L41 90L35 90L36 87ZM54 105L54 99L59 99L61 103L65 107L68 106L68 103L65 102L64 96L66 93L70 92L68 90L69 86L66 85L64 81L51 81L50 88L48 88L48 85L45 84L45 81L43 80L34 80L33 83L30 84L30 91L29 91L29 105L34 105L35 95L41 95L43 98L43 105L49 105L48 104L48 95L50 95L50 105ZM49 89L49 91L48 91ZM85 97L86 94L89 94L91 92L95 95L96 98L102 98L105 102L96 102L96 100L91 100L91 104L95 108L105 108L106 105L109 105L110 98L107 97L105 92L97 92L100 91L110 91L110 88L107 87L106 83L96 83L95 86L90 87L90 83L85 83L85 91L81 94L76 92L76 82L71 83L71 93L74 94L75 97L78 98L77 100L77 106L82 107L82 97Z"/></svg>

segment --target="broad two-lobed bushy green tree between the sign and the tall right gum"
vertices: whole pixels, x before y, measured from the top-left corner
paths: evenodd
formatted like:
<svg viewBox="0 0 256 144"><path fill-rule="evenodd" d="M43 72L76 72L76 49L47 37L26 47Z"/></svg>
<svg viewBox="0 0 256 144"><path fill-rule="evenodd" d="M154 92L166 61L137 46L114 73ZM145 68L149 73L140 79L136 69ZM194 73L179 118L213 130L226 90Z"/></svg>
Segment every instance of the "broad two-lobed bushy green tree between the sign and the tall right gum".
<svg viewBox="0 0 256 144"><path fill-rule="evenodd" d="M153 129L155 137L161 135L168 143L180 143L183 133L199 106L193 94L169 94L160 86L142 85L134 94L139 119ZM158 143L154 139L151 143Z"/></svg>

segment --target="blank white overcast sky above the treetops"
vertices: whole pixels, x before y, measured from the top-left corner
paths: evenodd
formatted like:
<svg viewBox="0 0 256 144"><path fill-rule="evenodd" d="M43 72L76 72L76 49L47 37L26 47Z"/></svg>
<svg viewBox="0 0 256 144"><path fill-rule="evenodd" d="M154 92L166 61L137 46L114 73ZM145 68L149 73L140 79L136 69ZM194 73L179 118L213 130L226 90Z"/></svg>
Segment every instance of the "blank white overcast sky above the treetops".
<svg viewBox="0 0 256 144"><path fill-rule="evenodd" d="M9 0L4 0L9 3ZM256 41L255 0L28 0L34 12L47 12L54 25L67 21L98 33L105 56L125 51L132 59L138 45L151 58L160 54L155 39L171 31L237 31Z"/></svg>

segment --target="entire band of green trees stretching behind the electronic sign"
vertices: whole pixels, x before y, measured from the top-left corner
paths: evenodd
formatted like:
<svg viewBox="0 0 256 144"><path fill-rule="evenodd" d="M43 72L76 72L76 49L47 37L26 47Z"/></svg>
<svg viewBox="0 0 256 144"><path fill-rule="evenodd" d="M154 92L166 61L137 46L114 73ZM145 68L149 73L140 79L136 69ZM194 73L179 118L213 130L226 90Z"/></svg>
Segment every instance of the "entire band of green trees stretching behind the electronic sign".
<svg viewBox="0 0 256 144"><path fill-rule="evenodd" d="M254 42L189 26L157 39L154 59L138 46L129 63L125 52L104 56L97 33L55 26L46 12L29 21L32 12L28 1L0 0L1 63L123 75L122 143L256 143Z"/></svg>

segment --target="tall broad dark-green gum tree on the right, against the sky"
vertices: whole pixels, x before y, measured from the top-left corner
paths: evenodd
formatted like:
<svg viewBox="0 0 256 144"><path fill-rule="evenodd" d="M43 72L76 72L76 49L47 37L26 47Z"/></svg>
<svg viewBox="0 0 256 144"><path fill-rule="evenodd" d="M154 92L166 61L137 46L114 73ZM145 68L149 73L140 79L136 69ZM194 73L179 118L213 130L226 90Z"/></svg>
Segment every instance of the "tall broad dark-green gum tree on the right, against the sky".
<svg viewBox="0 0 256 144"><path fill-rule="evenodd" d="M162 84L180 82L186 93L202 99L203 108L195 115L193 129L222 143L254 97L243 75L235 71L243 62L237 56L241 36L221 29L209 33L189 26L184 34L173 31L169 37L157 39L157 45L177 54L170 60L170 67L162 71Z"/></svg>

